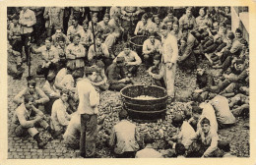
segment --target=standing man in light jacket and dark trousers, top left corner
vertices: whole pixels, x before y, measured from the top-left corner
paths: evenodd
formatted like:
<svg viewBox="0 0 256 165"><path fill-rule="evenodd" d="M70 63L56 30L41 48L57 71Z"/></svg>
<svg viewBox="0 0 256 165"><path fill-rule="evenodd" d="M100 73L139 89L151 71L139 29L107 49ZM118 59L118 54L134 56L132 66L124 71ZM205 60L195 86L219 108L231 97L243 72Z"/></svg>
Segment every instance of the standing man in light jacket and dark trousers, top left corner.
<svg viewBox="0 0 256 165"><path fill-rule="evenodd" d="M23 7L23 10L20 13L20 20L19 23L21 25L21 36L22 36L22 43L25 46L25 53L26 53L26 60L29 60L30 56L30 41L32 36L32 26L35 25L36 19L34 12L29 9L29 7Z"/></svg>

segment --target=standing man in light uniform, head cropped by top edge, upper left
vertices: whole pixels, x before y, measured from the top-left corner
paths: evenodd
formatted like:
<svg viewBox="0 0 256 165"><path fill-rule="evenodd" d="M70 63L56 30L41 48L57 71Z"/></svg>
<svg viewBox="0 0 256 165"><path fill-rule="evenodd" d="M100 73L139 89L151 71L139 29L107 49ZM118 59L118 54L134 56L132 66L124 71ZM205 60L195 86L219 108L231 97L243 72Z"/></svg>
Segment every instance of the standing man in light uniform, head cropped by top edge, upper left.
<svg viewBox="0 0 256 165"><path fill-rule="evenodd" d="M64 8L46 7L43 13L47 36L50 37L56 28L63 29Z"/></svg>

